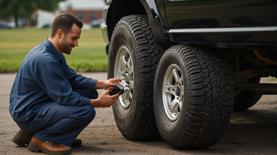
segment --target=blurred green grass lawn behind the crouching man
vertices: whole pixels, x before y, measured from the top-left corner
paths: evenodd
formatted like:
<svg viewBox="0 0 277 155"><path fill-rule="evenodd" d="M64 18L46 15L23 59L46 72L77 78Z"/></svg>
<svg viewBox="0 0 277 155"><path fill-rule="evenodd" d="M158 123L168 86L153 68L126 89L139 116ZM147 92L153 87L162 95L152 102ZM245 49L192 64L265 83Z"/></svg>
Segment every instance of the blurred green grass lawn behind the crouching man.
<svg viewBox="0 0 277 155"><path fill-rule="evenodd" d="M51 28L0 29L0 72L17 72L29 51L50 33ZM63 54L70 68L79 72L107 71L108 56L100 28L82 29L78 44L70 55Z"/></svg>

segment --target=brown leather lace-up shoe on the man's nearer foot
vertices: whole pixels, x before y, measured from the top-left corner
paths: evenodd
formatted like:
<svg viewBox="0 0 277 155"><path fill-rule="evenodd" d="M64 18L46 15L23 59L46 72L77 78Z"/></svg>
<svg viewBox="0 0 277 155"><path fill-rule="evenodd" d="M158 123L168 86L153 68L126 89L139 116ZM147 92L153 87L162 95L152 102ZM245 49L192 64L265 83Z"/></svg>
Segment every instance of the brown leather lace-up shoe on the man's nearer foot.
<svg viewBox="0 0 277 155"><path fill-rule="evenodd" d="M50 141L43 142L35 136L32 137L28 149L32 152L41 150L45 154L68 154L72 152L71 147Z"/></svg>

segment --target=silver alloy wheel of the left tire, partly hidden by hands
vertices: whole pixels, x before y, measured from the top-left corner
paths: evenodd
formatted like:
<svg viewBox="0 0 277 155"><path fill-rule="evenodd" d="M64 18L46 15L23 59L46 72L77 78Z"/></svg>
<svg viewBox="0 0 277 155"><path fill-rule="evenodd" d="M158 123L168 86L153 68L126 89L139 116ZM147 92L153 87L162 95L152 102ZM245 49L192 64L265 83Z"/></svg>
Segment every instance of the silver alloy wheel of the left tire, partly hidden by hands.
<svg viewBox="0 0 277 155"><path fill-rule="evenodd" d="M134 74L131 54L127 47L121 46L115 59L115 78L121 78L121 85L124 87L124 94L119 96L123 108L128 108L133 96Z"/></svg>

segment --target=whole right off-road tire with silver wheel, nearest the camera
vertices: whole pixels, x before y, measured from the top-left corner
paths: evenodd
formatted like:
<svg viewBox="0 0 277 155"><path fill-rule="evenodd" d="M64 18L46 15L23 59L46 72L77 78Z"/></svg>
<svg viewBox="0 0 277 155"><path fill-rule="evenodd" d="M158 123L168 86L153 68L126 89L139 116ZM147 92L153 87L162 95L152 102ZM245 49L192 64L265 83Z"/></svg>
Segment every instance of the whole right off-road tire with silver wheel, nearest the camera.
<svg viewBox="0 0 277 155"><path fill-rule="evenodd" d="M233 111L231 70L221 53L175 45L163 54L154 81L154 112L162 138L181 149L213 146Z"/></svg>

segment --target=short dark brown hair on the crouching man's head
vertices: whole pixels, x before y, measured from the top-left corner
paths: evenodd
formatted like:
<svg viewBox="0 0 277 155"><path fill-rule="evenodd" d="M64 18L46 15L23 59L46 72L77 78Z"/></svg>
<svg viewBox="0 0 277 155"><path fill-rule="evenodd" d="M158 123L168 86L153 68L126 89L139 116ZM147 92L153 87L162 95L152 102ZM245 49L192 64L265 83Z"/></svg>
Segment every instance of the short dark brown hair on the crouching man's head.
<svg viewBox="0 0 277 155"><path fill-rule="evenodd" d="M54 38L59 30L63 30L63 33L67 36L67 34L71 32L71 28L74 23L79 28L83 27L82 21L80 21L73 15L70 15L69 13L58 15L52 23L52 31L50 38Z"/></svg>

